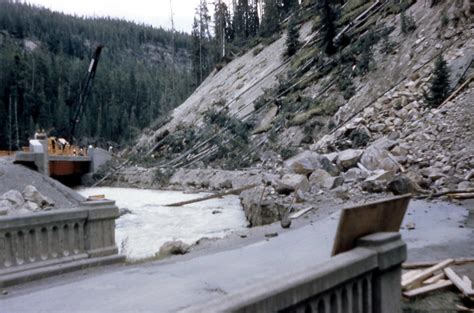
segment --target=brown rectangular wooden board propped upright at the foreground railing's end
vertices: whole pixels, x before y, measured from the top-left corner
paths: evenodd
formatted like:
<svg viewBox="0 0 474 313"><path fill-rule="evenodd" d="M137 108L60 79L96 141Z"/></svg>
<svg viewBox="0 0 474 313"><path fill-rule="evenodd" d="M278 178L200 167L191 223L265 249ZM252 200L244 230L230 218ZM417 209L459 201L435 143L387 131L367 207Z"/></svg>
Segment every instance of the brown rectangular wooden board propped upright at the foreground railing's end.
<svg viewBox="0 0 474 313"><path fill-rule="evenodd" d="M339 218L332 255L349 251L358 238L378 232L398 232L411 194L344 208Z"/></svg>

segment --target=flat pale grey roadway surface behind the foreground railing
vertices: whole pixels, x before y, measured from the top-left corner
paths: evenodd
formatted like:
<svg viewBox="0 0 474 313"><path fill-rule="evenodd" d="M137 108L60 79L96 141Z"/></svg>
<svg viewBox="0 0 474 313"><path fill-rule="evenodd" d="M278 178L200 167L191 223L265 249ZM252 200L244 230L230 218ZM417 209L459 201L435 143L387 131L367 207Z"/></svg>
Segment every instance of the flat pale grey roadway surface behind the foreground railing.
<svg viewBox="0 0 474 313"><path fill-rule="evenodd" d="M413 201L403 225L413 222L415 229L401 230L408 259L471 254L473 230L465 227L468 214L467 208L458 205ZM209 249L208 254L199 250L165 261L82 271L15 287L0 296L0 307L8 313L177 311L288 269L327 260L337 218L338 213L285 232L275 228L279 236L271 239L261 234L240 239L247 244L238 238L224 239L219 245L227 242L227 248ZM440 245L449 248L439 250Z"/></svg>

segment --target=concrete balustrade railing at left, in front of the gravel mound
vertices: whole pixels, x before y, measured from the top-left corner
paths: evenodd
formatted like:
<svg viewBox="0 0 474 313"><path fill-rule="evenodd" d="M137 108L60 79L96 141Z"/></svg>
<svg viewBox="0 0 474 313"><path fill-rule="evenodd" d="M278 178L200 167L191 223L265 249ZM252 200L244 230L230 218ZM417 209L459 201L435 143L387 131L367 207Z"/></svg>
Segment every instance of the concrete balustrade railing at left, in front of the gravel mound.
<svg viewBox="0 0 474 313"><path fill-rule="evenodd" d="M120 262L114 201L78 209L0 218L0 287L99 264Z"/></svg>

